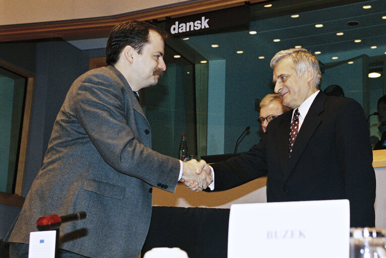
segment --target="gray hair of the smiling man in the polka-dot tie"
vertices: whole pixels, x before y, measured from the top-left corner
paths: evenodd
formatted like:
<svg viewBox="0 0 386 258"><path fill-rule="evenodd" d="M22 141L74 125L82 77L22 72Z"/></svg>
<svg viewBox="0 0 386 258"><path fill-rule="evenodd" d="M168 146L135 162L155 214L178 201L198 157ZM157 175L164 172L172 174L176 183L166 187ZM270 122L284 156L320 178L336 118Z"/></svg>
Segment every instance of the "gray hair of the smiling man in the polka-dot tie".
<svg viewBox="0 0 386 258"><path fill-rule="evenodd" d="M282 50L272 57L270 67L274 69L277 64L287 56L291 56L292 61L295 63L295 70L298 76L302 76L304 72L306 72L308 67L314 70L315 87L319 90L322 81L322 76L320 72L318 58L316 57L316 55L304 48L291 48L287 50Z"/></svg>

